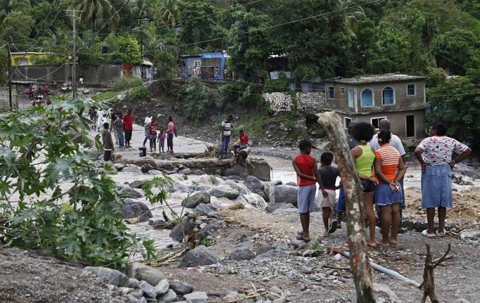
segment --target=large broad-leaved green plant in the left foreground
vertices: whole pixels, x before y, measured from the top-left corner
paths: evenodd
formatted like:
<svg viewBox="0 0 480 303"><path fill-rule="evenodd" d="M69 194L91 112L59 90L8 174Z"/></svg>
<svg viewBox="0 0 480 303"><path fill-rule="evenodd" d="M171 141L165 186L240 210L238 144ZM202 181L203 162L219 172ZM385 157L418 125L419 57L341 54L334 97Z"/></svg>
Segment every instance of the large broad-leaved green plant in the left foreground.
<svg viewBox="0 0 480 303"><path fill-rule="evenodd" d="M151 257L154 248L123 224L119 191L104 174L112 167L72 141L89 140L83 111L91 105L68 100L0 115L0 238L73 262L125 267L130 254Z"/></svg>

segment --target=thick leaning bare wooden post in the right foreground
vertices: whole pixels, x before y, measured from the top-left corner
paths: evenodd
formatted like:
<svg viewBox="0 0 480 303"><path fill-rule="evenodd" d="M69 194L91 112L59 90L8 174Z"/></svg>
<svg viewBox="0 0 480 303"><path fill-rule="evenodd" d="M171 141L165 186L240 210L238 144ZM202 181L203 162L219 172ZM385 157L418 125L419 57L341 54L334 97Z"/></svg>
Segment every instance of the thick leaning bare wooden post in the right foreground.
<svg viewBox="0 0 480 303"><path fill-rule="evenodd" d="M341 125L339 115L336 112L324 112L317 114L317 117L319 117L318 123L322 124L330 138L331 148L339 165L341 183L345 190L350 271L357 289L357 302L372 303L375 302L375 297L370 262L367 257L365 207L360 179L355 172L345 129Z"/></svg>

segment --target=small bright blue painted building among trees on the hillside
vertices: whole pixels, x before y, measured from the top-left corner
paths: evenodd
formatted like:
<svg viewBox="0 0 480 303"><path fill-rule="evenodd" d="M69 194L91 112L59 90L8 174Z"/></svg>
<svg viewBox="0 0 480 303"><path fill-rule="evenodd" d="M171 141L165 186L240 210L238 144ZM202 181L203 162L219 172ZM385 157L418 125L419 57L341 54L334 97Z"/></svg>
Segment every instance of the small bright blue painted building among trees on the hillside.
<svg viewBox="0 0 480 303"><path fill-rule="evenodd" d="M201 53L198 56L184 56L184 77L196 75L200 79L224 79L225 53Z"/></svg>

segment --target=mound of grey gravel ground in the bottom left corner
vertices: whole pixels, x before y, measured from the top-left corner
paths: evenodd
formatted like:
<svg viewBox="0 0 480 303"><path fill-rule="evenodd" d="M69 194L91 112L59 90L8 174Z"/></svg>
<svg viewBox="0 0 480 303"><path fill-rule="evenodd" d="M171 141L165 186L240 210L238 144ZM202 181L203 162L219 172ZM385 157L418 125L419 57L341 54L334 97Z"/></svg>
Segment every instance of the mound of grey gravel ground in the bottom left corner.
<svg viewBox="0 0 480 303"><path fill-rule="evenodd" d="M0 249L0 302L130 302L82 266L41 252Z"/></svg>

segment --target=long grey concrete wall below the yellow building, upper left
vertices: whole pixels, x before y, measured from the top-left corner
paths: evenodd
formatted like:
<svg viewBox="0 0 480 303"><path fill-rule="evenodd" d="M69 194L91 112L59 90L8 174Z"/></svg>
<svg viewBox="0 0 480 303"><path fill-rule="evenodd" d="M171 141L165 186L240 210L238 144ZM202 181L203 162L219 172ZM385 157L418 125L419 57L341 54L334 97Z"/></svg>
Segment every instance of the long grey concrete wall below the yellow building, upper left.
<svg viewBox="0 0 480 303"><path fill-rule="evenodd" d="M19 66L12 67L13 81L64 83L71 77L71 68L68 65L58 66ZM122 65L77 66L76 79L83 75L83 83L90 85L109 85L122 76Z"/></svg>

